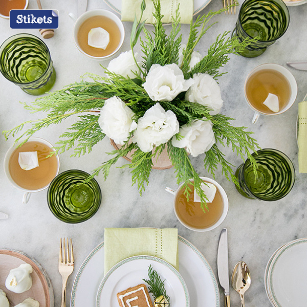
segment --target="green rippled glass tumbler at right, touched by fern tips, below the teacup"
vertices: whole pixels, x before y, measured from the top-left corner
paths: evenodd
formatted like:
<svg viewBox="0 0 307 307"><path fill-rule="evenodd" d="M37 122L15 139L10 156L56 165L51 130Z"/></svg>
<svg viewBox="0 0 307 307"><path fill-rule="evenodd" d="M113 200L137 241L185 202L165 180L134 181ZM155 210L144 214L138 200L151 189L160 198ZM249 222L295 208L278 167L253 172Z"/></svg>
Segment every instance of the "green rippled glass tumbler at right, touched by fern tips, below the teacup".
<svg viewBox="0 0 307 307"><path fill-rule="evenodd" d="M291 160L281 151L270 148L258 150L252 156L257 162L256 174L249 159L235 172L239 193L263 201L277 201L286 196L295 182Z"/></svg>

